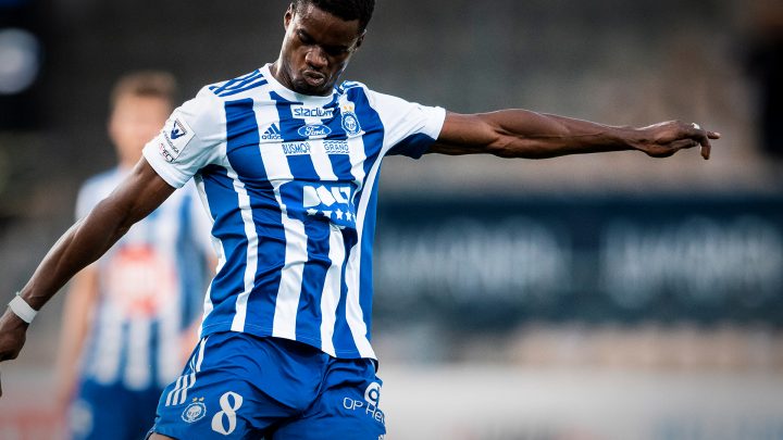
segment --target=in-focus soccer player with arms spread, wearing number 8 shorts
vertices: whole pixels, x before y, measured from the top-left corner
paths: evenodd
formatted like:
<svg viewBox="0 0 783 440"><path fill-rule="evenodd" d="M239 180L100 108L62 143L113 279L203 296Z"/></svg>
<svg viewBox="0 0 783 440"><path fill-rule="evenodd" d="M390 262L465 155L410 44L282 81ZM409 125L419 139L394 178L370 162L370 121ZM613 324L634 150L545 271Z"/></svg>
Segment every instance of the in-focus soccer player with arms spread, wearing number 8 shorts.
<svg viewBox="0 0 783 440"><path fill-rule="evenodd" d="M373 0L296 0L279 56L174 111L132 175L72 227L0 318L0 359L27 322L175 188L195 179L220 243L201 340L161 395L152 439L382 439L370 344L377 179L387 154L502 158L638 150L719 135L611 127L524 110L456 114L338 84Z"/></svg>

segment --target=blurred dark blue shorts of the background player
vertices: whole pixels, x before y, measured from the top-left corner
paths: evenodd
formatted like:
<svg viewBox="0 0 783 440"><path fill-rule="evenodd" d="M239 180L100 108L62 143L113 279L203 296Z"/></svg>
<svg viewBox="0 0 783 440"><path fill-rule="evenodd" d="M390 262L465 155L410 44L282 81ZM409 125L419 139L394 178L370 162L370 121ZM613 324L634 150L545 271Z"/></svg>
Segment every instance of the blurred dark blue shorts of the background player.
<svg viewBox="0 0 783 440"><path fill-rule="evenodd" d="M73 440L138 440L154 420L160 387L129 390L85 379L69 412Z"/></svg>

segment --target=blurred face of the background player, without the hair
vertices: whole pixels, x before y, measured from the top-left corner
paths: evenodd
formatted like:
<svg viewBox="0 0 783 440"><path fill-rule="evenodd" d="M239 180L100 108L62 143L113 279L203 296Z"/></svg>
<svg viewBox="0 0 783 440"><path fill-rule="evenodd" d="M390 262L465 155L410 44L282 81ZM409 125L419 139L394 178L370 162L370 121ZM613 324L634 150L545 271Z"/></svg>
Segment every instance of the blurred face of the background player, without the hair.
<svg viewBox="0 0 783 440"><path fill-rule="evenodd" d="M171 111L169 101L161 98L125 95L117 99L109 136L123 165L132 166L141 158L144 146L163 128Z"/></svg>

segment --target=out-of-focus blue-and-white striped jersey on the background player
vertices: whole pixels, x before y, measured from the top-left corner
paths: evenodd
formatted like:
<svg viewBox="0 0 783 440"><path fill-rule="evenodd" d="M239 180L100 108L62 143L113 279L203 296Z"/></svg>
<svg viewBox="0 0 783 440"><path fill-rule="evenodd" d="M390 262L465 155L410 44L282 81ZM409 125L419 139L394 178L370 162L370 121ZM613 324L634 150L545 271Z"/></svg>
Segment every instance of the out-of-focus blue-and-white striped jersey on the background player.
<svg viewBox="0 0 783 440"><path fill-rule="evenodd" d="M79 190L77 218L122 181L114 168ZM194 185L176 191L94 263L98 302L83 376L127 389L163 388L182 368L183 331L199 317L213 255L210 219Z"/></svg>

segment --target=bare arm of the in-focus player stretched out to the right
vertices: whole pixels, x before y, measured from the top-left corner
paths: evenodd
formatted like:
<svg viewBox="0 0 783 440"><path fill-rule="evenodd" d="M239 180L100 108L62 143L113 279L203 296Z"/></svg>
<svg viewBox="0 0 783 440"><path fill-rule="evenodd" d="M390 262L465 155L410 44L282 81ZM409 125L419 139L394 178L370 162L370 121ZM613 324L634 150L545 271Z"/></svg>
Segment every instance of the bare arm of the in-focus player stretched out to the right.
<svg viewBox="0 0 783 440"><path fill-rule="evenodd" d="M720 134L678 121L642 128L612 127L526 110L492 113L448 113L432 153L488 153L501 158L544 159L566 154L638 150L666 158L680 150L701 147L709 159L710 139Z"/></svg>

